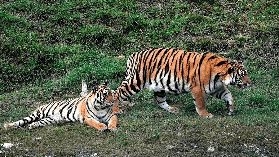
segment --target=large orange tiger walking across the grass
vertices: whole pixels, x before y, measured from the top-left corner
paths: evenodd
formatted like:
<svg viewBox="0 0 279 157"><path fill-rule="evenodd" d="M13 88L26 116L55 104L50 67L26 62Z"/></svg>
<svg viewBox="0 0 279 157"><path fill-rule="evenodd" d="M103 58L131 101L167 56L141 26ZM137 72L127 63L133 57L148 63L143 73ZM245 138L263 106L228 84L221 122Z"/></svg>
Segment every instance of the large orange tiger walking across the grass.
<svg viewBox="0 0 279 157"><path fill-rule="evenodd" d="M121 113L118 104L144 87L154 91L154 102L162 109L175 113L178 109L166 102L166 93L190 92L199 116L212 118L206 111L206 95L226 102L227 114L234 110L232 94L226 86L237 84L243 89L251 80L242 62L230 62L211 53L186 52L174 48L138 51L129 56L125 80L113 92L113 111Z"/></svg>

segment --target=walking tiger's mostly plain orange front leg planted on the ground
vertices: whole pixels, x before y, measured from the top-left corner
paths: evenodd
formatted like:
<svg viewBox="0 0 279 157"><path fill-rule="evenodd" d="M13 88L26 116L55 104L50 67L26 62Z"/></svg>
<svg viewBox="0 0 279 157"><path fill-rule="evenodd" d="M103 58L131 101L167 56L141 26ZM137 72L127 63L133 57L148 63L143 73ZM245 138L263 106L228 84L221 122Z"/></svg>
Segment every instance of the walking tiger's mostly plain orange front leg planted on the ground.
<svg viewBox="0 0 279 157"><path fill-rule="evenodd" d="M205 94L201 91L195 91L192 89L193 101L196 106L196 111L200 117L212 118L213 114L206 111Z"/></svg>

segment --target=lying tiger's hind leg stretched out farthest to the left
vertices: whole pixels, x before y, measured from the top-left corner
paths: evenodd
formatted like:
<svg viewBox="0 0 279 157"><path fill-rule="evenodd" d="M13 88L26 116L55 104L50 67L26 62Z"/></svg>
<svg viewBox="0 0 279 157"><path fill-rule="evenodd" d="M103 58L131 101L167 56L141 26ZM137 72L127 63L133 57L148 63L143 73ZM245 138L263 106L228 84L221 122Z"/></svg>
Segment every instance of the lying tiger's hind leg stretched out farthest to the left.
<svg viewBox="0 0 279 157"><path fill-rule="evenodd" d="M24 127L25 125L30 124L30 123L40 120L40 119L42 119L41 114L33 113L33 114L29 115L28 117L25 117L24 119L20 119L13 123L5 124L4 128L8 128L8 127L20 128L20 127Z"/></svg>

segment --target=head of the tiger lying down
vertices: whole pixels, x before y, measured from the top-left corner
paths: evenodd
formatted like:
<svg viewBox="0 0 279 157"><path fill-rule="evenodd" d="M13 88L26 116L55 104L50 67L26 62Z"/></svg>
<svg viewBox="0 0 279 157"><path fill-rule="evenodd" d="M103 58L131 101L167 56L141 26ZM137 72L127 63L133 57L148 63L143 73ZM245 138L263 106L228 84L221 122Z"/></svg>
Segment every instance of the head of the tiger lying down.
<svg viewBox="0 0 279 157"><path fill-rule="evenodd" d="M113 105L114 99L106 82L100 86L95 85L92 92L96 96L96 103L94 103L96 109L105 109Z"/></svg>

